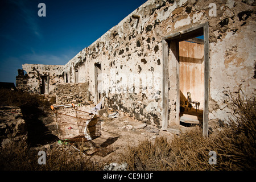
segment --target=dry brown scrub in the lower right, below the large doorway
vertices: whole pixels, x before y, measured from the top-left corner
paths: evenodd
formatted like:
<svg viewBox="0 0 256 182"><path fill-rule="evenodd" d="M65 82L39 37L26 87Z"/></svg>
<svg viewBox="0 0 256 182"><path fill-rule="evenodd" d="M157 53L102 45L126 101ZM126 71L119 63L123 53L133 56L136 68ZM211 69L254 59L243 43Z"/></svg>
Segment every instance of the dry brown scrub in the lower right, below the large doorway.
<svg viewBox="0 0 256 182"><path fill-rule="evenodd" d="M129 147L124 159L130 170L255 170L255 97L233 99L236 119L230 119L220 133L202 137L199 127L171 141L156 138ZM209 151L217 163L209 164Z"/></svg>

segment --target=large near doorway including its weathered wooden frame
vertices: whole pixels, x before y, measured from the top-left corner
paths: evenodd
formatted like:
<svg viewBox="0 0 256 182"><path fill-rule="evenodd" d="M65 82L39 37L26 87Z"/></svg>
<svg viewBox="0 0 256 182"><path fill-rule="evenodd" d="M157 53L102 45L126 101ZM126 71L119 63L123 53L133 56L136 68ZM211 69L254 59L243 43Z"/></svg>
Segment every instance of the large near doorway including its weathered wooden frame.
<svg viewBox="0 0 256 182"><path fill-rule="evenodd" d="M189 57L185 55L184 52L188 52L188 45L190 44L193 47L198 36L203 36L203 57ZM208 22L194 26L174 34L165 36L162 39L163 47L163 94L162 94L162 128L167 129L171 123L180 125L180 117L182 109L180 101L188 101L188 92L192 94L192 104L195 104L194 101L197 99L200 102L201 107L199 108L203 114L203 136L208 137L208 97L209 97L209 26ZM185 41L185 42L184 42ZM199 40L200 41L200 40ZM182 47L182 45L184 47ZM189 65L191 64L191 65ZM200 66L199 66L200 65ZM191 69L187 72L186 69ZM199 69L203 69L199 73ZM192 71L194 70L194 71ZM201 74L203 79L197 75ZM184 75L187 74L187 75ZM189 79L184 79L188 77L188 74L191 74ZM203 74L203 75L202 75ZM200 79L199 79L200 78ZM198 81L199 85L198 85ZM202 81L203 80L203 81ZM185 86L187 84L188 86ZM194 82L194 83L191 83ZM184 89L184 88L189 89ZM200 88L200 89L199 89ZM203 98L202 95L196 96L196 90L203 89ZM201 92L201 91L200 91ZM201 93L202 94L202 93ZM195 97L196 96L196 97ZM203 99L203 100L202 100ZM193 106L192 106L193 107ZM192 109L185 107L185 109ZM196 110L197 111L197 110ZM198 119L197 119L198 120Z"/></svg>

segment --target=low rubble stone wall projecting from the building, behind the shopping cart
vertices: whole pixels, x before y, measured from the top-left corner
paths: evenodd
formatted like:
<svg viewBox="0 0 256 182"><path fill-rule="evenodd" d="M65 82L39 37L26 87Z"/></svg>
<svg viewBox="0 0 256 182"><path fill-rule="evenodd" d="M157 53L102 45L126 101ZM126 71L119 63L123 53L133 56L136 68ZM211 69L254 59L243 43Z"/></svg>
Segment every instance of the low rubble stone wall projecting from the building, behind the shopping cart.
<svg viewBox="0 0 256 182"><path fill-rule="evenodd" d="M56 105L88 104L90 93L88 83L62 83L56 85Z"/></svg>

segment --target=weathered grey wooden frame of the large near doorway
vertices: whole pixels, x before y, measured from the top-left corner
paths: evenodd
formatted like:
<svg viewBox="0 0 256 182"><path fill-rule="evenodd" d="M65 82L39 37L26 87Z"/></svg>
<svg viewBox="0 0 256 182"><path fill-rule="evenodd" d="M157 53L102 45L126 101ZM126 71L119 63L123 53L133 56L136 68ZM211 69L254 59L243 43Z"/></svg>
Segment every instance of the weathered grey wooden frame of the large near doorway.
<svg viewBox="0 0 256 182"><path fill-rule="evenodd" d="M196 36L204 35L204 115L203 115L203 136L208 137L208 102L209 102L209 25L208 22L192 26L185 30L175 32L174 34L164 36L162 39L163 48L163 79L162 79L162 129L167 129L169 119L169 93L168 93L168 82L169 72L168 65L170 63L169 53L171 51L170 44L174 44L175 57L176 57L176 77L177 77L177 98L176 98L176 124L179 125L179 111L180 111L180 90L179 90L179 42L193 38Z"/></svg>

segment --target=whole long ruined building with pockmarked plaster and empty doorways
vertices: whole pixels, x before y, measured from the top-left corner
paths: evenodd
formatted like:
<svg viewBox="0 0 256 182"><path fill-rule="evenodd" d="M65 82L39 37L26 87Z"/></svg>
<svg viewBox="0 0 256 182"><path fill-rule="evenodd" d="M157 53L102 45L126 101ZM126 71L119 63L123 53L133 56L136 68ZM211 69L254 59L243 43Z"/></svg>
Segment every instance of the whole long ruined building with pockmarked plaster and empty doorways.
<svg viewBox="0 0 256 182"><path fill-rule="evenodd" d="M255 96L255 30L254 1L149 0L67 64L24 64L16 86L59 104L105 97L162 129L195 109L208 135L209 121L232 116L230 95Z"/></svg>

